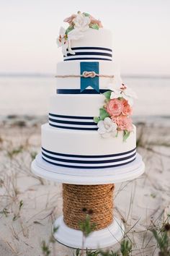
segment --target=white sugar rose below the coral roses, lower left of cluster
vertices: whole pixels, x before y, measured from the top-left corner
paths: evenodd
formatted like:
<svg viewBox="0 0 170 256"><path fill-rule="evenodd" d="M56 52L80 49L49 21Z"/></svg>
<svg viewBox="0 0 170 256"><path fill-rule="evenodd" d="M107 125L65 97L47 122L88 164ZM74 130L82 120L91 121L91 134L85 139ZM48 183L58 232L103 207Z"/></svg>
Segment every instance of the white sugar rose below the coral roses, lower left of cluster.
<svg viewBox="0 0 170 256"><path fill-rule="evenodd" d="M99 127L99 135L104 138L109 136L115 137L117 135L117 124L115 124L109 117L106 117L104 121L100 120L97 126Z"/></svg>

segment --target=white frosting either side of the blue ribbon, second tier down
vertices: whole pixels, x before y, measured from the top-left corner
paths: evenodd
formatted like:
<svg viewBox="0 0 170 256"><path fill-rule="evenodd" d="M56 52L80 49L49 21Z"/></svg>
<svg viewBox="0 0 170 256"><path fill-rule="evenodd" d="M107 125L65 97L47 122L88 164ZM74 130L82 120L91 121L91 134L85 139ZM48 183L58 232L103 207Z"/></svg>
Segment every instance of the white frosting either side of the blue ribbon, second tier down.
<svg viewBox="0 0 170 256"><path fill-rule="evenodd" d="M91 60L94 61L94 60ZM61 61L57 64L57 75L80 75L80 62L82 61ZM89 61L90 62L90 61ZM114 78L99 77L99 88L107 89L110 82L115 82L117 85L122 84L120 79L120 73L117 70L117 66L112 61L97 61L99 62L99 74L114 75ZM57 77L57 88L60 89L79 89L80 77ZM89 87L90 88L90 87Z"/></svg>

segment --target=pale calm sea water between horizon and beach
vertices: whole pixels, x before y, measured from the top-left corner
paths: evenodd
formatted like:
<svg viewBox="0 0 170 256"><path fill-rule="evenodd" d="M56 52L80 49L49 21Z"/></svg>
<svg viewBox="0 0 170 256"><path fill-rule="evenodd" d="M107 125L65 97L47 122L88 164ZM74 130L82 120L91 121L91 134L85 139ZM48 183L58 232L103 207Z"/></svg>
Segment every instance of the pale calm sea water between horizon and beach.
<svg viewBox="0 0 170 256"><path fill-rule="evenodd" d="M135 116L170 116L169 77L122 77L138 100ZM55 93L53 76L1 76L0 115L46 115L50 95Z"/></svg>

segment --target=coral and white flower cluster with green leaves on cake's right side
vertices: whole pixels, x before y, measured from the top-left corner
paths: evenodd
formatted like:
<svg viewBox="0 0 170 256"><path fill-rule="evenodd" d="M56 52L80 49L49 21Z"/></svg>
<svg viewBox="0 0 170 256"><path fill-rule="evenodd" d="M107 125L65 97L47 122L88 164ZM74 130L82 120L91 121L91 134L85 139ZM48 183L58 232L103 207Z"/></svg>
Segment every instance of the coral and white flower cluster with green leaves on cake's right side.
<svg viewBox="0 0 170 256"><path fill-rule="evenodd" d="M116 137L118 132L122 131L125 141L133 131L133 122L130 116L133 113L133 98L136 98L136 95L124 84L120 88L112 88L103 94L105 104L103 108L99 109L99 117L94 117L94 122L99 127L99 135Z"/></svg>

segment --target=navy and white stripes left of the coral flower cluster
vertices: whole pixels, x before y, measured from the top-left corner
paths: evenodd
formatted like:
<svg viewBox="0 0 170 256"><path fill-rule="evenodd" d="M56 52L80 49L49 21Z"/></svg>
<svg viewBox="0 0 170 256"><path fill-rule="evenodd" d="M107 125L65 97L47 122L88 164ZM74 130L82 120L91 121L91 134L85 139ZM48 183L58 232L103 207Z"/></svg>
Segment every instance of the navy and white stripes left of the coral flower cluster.
<svg viewBox="0 0 170 256"><path fill-rule="evenodd" d="M49 125L61 129L96 131L97 124L92 116L63 116L49 113Z"/></svg>

